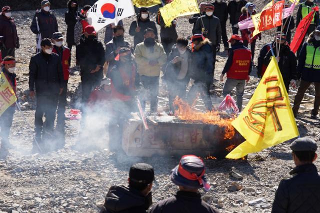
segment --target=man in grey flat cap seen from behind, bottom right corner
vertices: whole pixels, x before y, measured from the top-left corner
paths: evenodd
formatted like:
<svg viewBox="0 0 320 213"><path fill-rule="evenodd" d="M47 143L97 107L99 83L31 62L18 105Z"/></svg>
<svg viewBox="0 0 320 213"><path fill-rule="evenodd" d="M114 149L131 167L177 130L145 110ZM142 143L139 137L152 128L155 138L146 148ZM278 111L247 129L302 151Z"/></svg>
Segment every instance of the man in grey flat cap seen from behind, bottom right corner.
<svg viewBox="0 0 320 213"><path fill-rule="evenodd" d="M320 177L312 163L317 158L317 145L312 139L298 138L290 148L296 167L291 178L280 182L271 213L319 213Z"/></svg>

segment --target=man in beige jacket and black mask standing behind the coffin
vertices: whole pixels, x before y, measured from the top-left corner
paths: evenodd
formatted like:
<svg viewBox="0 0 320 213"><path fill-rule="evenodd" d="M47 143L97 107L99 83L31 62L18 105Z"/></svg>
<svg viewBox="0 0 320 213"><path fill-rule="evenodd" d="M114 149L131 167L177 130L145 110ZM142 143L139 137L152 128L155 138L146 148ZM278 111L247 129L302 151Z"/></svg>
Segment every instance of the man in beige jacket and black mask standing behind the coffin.
<svg viewBox="0 0 320 213"><path fill-rule="evenodd" d="M138 65L140 80L149 91L150 111L157 111L157 95L161 67L166 63L166 55L161 44L155 42L154 30L144 31L144 41L136 45L135 61ZM145 108L146 95L142 97L142 108Z"/></svg>

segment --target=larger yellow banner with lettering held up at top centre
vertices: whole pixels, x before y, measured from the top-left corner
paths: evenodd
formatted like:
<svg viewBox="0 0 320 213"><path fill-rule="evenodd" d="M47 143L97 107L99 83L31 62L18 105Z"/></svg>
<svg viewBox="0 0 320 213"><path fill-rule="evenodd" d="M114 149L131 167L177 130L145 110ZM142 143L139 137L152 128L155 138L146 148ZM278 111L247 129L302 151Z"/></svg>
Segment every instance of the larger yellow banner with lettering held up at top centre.
<svg viewBox="0 0 320 213"><path fill-rule="evenodd" d="M196 0L173 0L161 7L160 12L166 26L171 26L176 17L200 13Z"/></svg>

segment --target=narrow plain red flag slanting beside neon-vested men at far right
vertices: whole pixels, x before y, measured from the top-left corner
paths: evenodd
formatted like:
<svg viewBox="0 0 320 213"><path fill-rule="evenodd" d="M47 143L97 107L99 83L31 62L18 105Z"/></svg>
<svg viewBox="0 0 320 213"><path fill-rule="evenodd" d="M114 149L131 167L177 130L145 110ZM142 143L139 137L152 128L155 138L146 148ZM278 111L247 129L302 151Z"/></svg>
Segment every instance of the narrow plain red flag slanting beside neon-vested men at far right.
<svg viewBox="0 0 320 213"><path fill-rule="evenodd" d="M292 52L296 53L296 51L298 50L298 48L299 48L299 46L305 36L306 31L309 28L309 25L312 21L313 14L315 11L319 11L318 6L313 7L312 11L309 12L309 14L307 14L307 16L305 16L300 21L299 25L296 27L294 37L293 37L291 44L290 44L290 49L292 50Z"/></svg>

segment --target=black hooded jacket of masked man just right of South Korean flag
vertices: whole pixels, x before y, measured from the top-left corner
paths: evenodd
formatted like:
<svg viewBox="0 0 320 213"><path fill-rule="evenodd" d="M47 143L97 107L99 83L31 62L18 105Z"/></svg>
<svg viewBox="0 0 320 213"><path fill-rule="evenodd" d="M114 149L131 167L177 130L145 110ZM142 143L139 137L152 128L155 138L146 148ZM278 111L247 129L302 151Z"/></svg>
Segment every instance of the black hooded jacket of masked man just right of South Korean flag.
<svg viewBox="0 0 320 213"><path fill-rule="evenodd" d="M144 39L144 30L146 28L151 28L154 30L154 34L155 34L155 39L158 39L158 31L156 29L155 23L154 21L150 20L150 14L148 15L148 18L146 20L141 20L141 11L139 11L139 13L137 14L137 20L138 20L138 24L140 27L140 31L136 32L135 28L137 27L136 25L136 21L132 21L130 28L129 28L129 34L133 37L133 48L135 48L135 46L138 43L141 43Z"/></svg>

